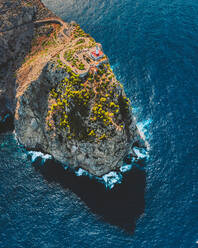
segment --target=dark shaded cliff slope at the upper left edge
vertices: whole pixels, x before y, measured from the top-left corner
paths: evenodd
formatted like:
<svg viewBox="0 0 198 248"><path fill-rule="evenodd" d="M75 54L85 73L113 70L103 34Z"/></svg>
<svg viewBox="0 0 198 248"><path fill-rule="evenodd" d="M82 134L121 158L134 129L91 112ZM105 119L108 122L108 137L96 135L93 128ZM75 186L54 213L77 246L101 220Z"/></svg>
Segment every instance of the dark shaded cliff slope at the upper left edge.
<svg viewBox="0 0 198 248"><path fill-rule="evenodd" d="M0 1L0 132L13 126L16 70L31 49L36 19L54 16L38 0Z"/></svg>

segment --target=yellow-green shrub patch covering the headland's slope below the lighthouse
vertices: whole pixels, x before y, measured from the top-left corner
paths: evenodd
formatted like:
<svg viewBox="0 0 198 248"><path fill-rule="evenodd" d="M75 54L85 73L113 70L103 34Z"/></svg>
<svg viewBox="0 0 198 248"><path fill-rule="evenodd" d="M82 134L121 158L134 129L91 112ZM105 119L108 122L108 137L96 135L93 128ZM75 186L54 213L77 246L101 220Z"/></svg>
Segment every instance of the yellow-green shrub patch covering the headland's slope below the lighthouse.
<svg viewBox="0 0 198 248"><path fill-rule="evenodd" d="M48 127L63 129L68 139L98 142L122 130L129 113L129 100L118 94L120 83L110 66L100 66L97 74L89 73L80 78L60 59L57 62L69 77L50 93ZM112 82L106 79L107 72Z"/></svg>

